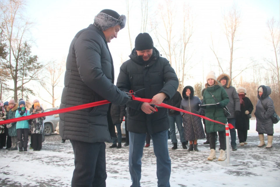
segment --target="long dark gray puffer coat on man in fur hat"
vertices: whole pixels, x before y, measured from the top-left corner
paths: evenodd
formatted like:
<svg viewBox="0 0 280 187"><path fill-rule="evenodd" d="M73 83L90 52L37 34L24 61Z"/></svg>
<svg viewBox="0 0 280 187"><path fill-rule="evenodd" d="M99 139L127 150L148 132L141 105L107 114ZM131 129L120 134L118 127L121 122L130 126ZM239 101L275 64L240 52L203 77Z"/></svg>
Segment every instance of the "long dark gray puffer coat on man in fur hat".
<svg viewBox="0 0 280 187"><path fill-rule="evenodd" d="M113 59L104 33L91 24L70 44L60 109L102 100L125 105L129 96L113 83ZM106 104L60 114L60 136L89 143L111 142L115 128L110 107Z"/></svg>

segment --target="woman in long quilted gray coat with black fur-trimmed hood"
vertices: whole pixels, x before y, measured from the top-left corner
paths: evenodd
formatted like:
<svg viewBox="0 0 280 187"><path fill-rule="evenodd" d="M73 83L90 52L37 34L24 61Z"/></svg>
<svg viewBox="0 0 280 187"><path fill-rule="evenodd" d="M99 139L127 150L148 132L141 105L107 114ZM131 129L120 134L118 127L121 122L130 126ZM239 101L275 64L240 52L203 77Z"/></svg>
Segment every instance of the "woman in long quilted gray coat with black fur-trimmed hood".
<svg viewBox="0 0 280 187"><path fill-rule="evenodd" d="M180 108L198 115L202 115L203 109L199 108L201 101L198 97L193 96L193 93L194 90L192 86L186 86L183 89L183 99L181 101ZM183 117L185 140L190 141L190 147L188 151L198 151L197 140L205 138L201 118L183 112L181 112L181 115Z"/></svg>

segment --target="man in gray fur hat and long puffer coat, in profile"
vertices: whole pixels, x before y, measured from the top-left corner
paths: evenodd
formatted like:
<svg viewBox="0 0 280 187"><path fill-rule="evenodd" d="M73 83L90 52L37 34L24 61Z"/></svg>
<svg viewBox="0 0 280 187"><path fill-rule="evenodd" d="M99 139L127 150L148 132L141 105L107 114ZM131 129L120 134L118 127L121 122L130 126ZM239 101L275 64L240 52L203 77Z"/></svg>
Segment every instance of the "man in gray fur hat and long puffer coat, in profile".
<svg viewBox="0 0 280 187"><path fill-rule="evenodd" d="M79 31L70 44L60 109L108 100L125 105L130 97L114 85L114 66L108 44L125 27L125 15L109 9L94 24ZM69 139L75 155L73 186L106 186L105 141L115 129L111 104L60 114L59 132Z"/></svg>

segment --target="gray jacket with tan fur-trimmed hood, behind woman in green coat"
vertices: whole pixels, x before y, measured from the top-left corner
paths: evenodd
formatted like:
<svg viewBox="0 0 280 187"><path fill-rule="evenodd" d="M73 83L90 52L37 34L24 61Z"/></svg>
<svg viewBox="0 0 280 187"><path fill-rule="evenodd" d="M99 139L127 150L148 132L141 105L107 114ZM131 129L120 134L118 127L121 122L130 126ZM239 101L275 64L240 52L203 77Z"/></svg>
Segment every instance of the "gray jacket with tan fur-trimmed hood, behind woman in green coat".
<svg viewBox="0 0 280 187"><path fill-rule="evenodd" d="M233 86L230 86L230 84L231 84L230 76L223 73L217 78L217 80L220 82L220 80L222 78L227 79L227 83L225 84L225 86L223 86L223 88L227 92L227 96L230 99L230 102L228 102L228 104L227 104L227 109L230 111L230 117L228 117L228 118L234 118L235 117L234 112L235 111L240 112L239 96L238 96L236 89Z"/></svg>

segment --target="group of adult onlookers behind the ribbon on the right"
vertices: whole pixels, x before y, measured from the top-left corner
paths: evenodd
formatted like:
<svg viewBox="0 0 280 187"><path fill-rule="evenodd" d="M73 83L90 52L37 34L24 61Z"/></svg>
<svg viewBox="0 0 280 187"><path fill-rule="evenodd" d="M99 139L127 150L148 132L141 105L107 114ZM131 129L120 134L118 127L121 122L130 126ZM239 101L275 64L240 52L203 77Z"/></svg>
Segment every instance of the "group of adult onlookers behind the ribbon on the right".
<svg viewBox="0 0 280 187"><path fill-rule="evenodd" d="M215 73L211 71L207 75L206 81L205 88L202 90L202 100L197 96L194 96L194 89L192 86L185 86L182 94L177 91L175 95L167 101L167 104L188 112L206 116L224 124L232 124L235 129L230 129L230 145L232 150L236 151L236 129L239 145L244 146L248 144L246 140L247 132L250 128L249 119L251 118L251 113L254 109L253 104L250 99L246 97L246 89L244 87L235 89L231 86L231 79L227 74L221 74L216 78ZM259 86L257 93L259 101L255 108L255 117L257 121L256 131L258 131L260 139L260 144L258 146L265 146L264 134L267 134L268 142L266 148L271 148L273 139L273 122L271 116L274 113L273 101L269 97L271 89L268 86L262 85ZM116 126L118 138L113 138L113 144L110 148L122 147L121 123L125 114L125 106L112 105L111 117ZM175 131L175 125L177 125L183 149L188 149L188 151L198 151L197 140L206 138L204 144L209 144L211 149L210 155L207 158L208 160L216 158L215 149L219 135L220 156L218 160L225 160L225 125L204 119L201 120L198 116L178 112L172 109L168 110L168 114L170 126L169 138L173 144L173 147L171 148L172 150L178 148ZM204 124L204 128L202 123ZM150 134L147 133L145 147L150 146L150 137ZM129 138L127 137L126 139L125 146L128 146ZM188 143L189 148L187 148Z"/></svg>

